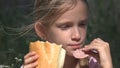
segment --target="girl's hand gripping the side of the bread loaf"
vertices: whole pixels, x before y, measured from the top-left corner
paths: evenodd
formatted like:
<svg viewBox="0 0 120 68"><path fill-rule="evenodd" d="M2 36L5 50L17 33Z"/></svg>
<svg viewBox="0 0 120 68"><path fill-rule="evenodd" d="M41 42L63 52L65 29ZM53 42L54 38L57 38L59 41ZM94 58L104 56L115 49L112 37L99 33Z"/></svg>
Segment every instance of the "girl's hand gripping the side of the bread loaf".
<svg viewBox="0 0 120 68"><path fill-rule="evenodd" d="M35 52L29 52L28 54L26 54L24 56L24 64L23 64L23 68L35 68L37 67L38 63L37 63L37 59L38 59L38 55L36 55Z"/></svg>

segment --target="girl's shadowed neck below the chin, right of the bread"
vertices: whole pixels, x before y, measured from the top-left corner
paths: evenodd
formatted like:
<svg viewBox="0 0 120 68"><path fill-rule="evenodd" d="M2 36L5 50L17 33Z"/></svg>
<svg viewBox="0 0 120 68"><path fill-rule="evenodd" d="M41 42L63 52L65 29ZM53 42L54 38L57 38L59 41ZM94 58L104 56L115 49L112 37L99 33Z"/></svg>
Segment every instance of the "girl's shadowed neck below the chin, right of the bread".
<svg viewBox="0 0 120 68"><path fill-rule="evenodd" d="M76 66L78 65L78 62L79 62L78 59L75 59L72 56L66 55L63 68L76 68Z"/></svg>

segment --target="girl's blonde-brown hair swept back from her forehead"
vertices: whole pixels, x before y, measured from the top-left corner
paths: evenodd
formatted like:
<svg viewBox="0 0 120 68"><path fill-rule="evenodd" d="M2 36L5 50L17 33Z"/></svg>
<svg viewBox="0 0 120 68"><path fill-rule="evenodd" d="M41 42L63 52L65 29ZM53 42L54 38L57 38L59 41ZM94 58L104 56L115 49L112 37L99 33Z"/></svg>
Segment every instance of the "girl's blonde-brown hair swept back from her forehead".
<svg viewBox="0 0 120 68"><path fill-rule="evenodd" d="M78 0L35 0L34 18L45 26L55 22L63 13L74 8ZM86 2L86 0L81 0ZM86 2L87 4L87 2Z"/></svg>

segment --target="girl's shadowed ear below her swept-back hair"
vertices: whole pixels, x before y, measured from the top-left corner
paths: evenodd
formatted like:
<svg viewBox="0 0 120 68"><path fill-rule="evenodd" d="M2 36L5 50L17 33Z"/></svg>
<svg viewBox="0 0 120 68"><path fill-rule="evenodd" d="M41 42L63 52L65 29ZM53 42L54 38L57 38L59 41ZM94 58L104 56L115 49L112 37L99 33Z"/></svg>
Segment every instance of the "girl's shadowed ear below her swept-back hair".
<svg viewBox="0 0 120 68"><path fill-rule="evenodd" d="M46 39L46 29L45 29L45 26L43 24L41 24L41 22L36 22L34 25L34 28L35 28L36 34L40 38Z"/></svg>

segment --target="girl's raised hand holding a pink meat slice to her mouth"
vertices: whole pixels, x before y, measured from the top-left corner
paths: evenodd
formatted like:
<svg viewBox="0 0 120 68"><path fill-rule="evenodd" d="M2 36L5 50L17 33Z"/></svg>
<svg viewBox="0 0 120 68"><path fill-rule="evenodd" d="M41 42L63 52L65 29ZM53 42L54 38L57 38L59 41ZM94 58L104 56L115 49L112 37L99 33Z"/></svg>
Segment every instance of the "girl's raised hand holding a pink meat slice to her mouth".
<svg viewBox="0 0 120 68"><path fill-rule="evenodd" d="M107 42L100 38L94 39L89 45L83 48L89 55L95 57L102 68L112 68L112 58L110 54L110 47ZM91 50L97 50L98 54L90 53Z"/></svg>

